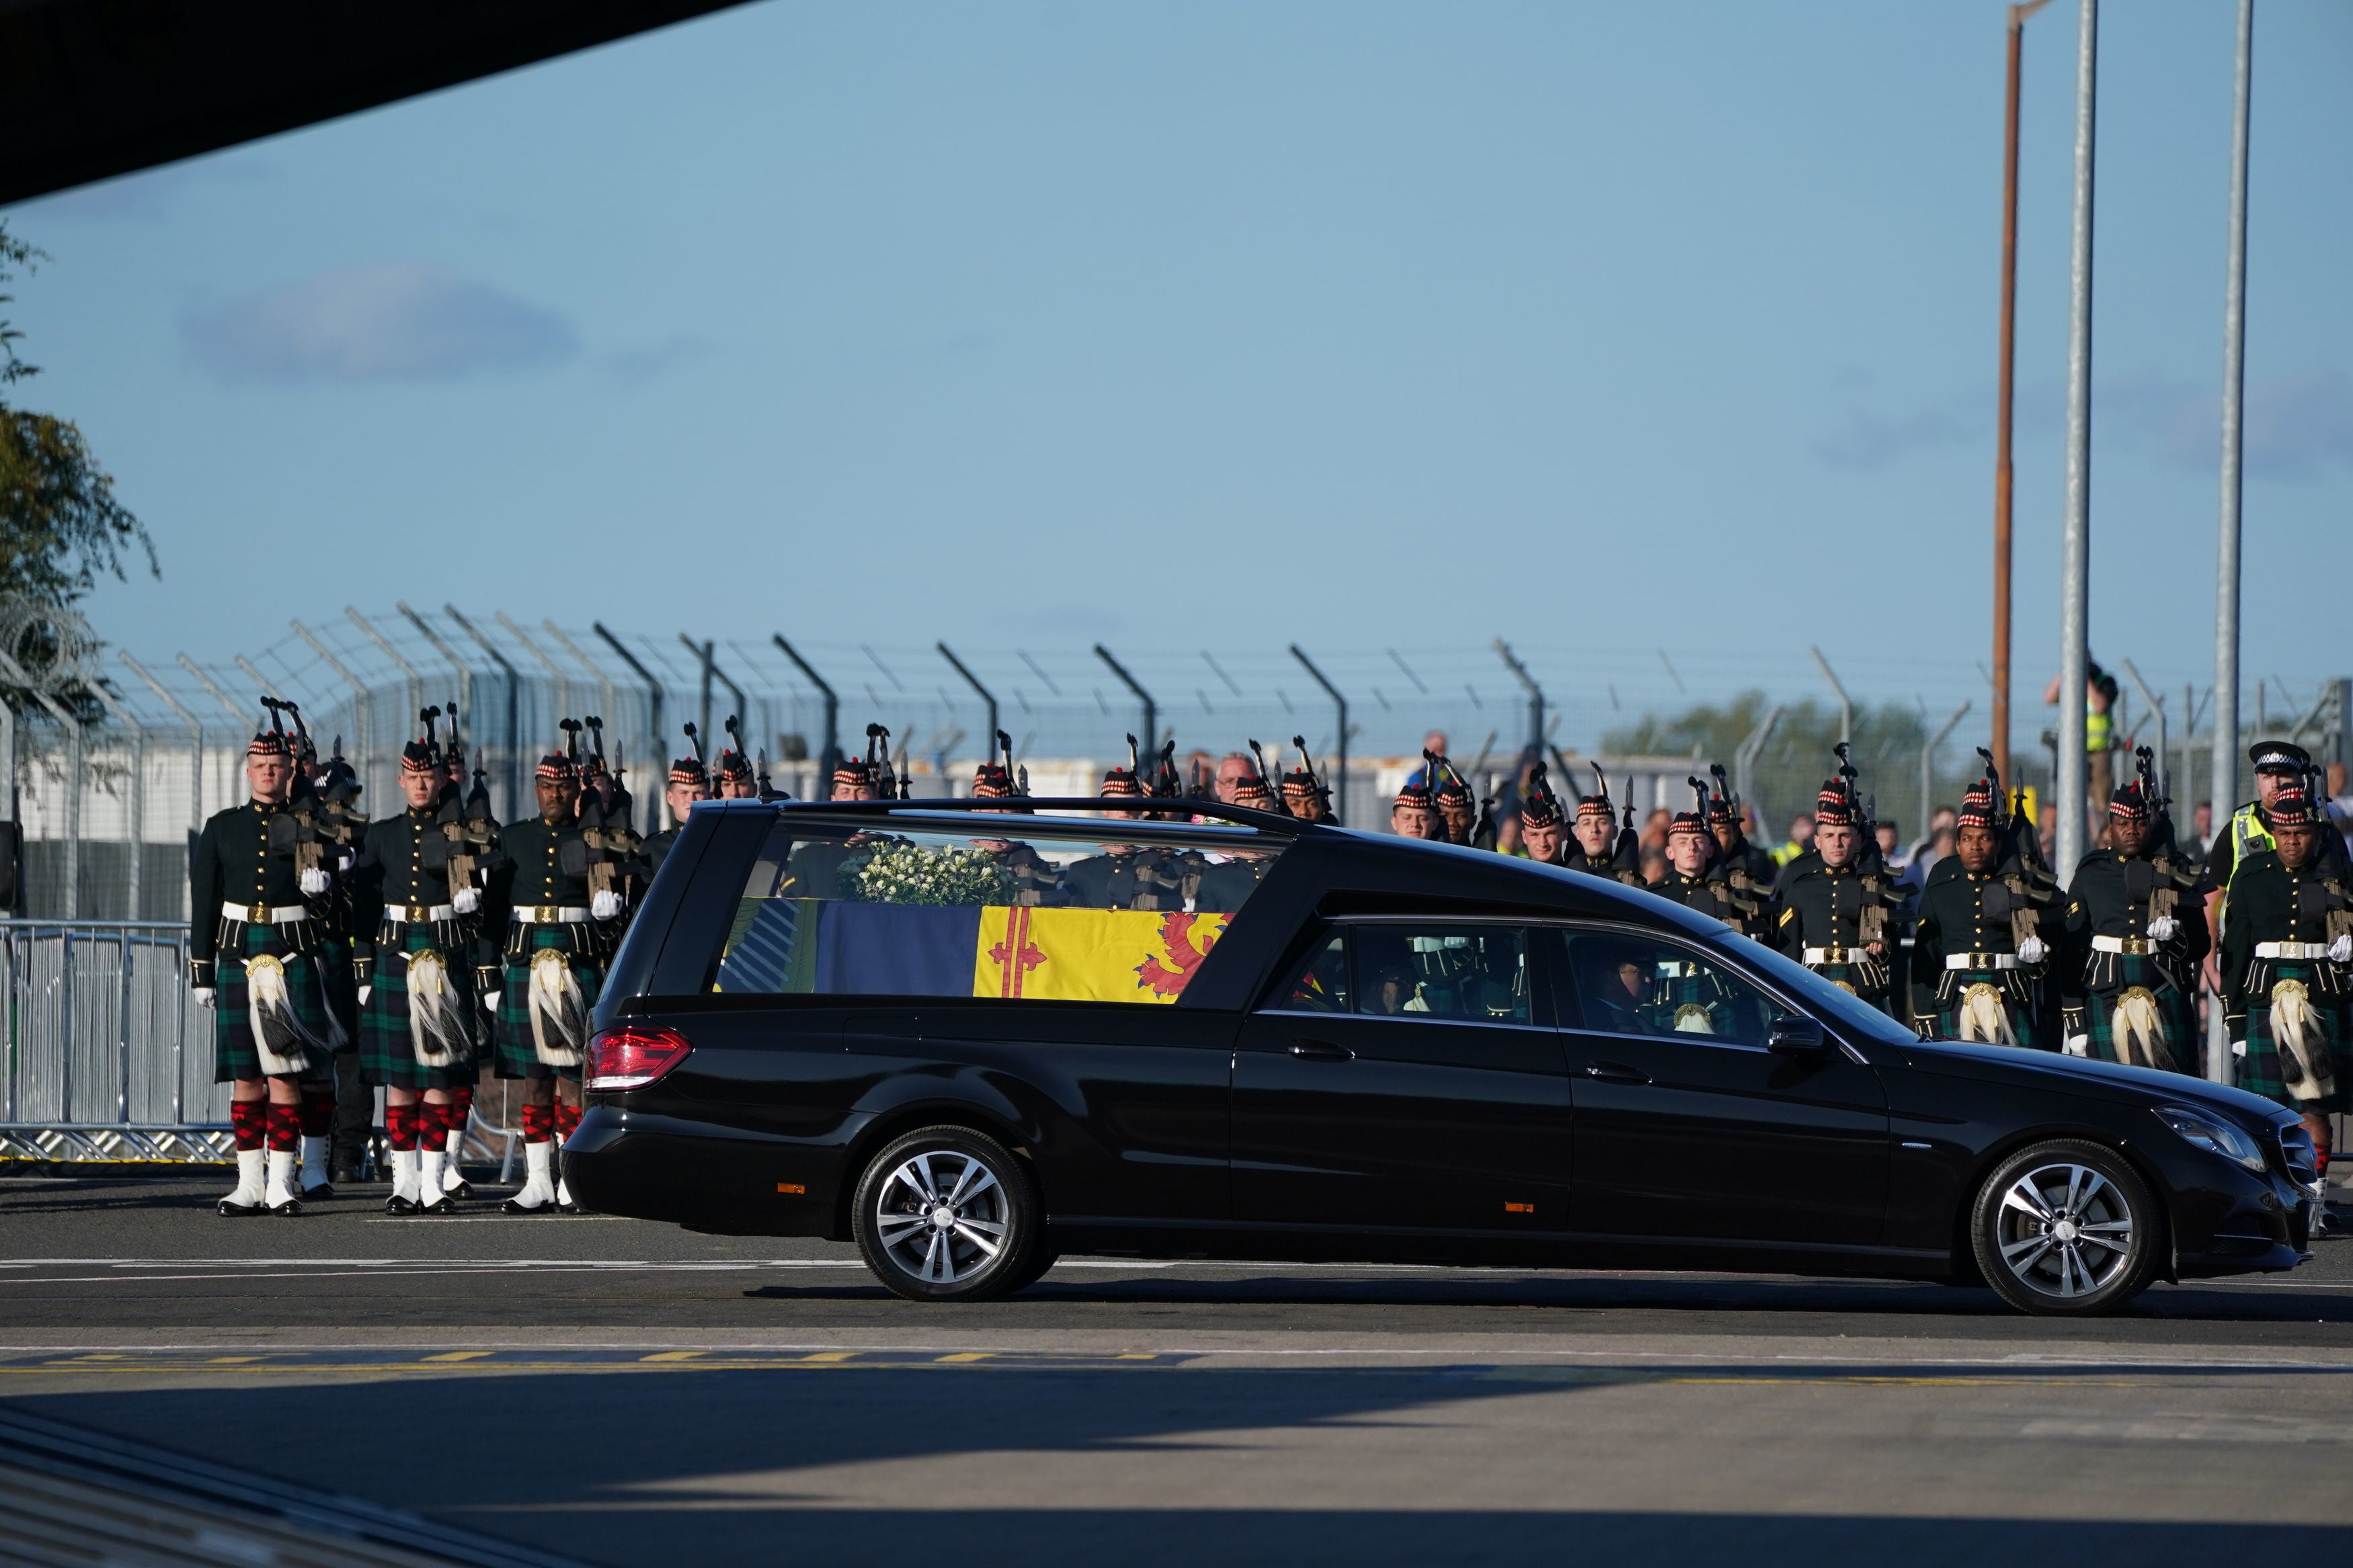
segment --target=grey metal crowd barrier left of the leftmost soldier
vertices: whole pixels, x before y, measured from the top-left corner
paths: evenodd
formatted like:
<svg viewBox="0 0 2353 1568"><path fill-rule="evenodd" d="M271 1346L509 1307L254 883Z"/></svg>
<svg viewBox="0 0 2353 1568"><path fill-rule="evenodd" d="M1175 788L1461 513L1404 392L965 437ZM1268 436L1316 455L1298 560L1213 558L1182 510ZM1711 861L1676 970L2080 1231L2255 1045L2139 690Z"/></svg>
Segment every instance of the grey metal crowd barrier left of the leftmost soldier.
<svg viewBox="0 0 2353 1568"><path fill-rule="evenodd" d="M233 1159L186 924L0 922L0 1161Z"/></svg>

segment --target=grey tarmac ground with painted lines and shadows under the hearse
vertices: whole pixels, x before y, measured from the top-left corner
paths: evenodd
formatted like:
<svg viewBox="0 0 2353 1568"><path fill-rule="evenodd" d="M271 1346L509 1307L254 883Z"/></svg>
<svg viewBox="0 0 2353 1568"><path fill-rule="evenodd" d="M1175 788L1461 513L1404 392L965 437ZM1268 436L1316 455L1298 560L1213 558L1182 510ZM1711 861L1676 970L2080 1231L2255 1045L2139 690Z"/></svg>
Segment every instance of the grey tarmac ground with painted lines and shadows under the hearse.
<svg viewBox="0 0 2353 1568"><path fill-rule="evenodd" d="M224 1187L0 1180L0 1422L414 1509L412 1544L445 1535L405 1561L2353 1542L2353 1241L2099 1321L1920 1284L1111 1258L925 1307L838 1244L494 1194L393 1220L381 1187L221 1220Z"/></svg>

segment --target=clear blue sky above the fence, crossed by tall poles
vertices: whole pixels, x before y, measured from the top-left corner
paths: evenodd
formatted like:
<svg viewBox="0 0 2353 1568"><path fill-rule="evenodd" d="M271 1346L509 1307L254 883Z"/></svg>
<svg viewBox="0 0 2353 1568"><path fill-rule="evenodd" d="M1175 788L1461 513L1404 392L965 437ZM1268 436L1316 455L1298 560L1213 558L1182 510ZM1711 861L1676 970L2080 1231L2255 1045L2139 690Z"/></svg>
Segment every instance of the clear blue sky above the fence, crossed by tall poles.
<svg viewBox="0 0 2353 1568"><path fill-rule="evenodd" d="M2101 33L2094 654L2212 670L2228 0ZM2073 5L2028 26L2019 670ZM2002 5L765 0L9 226L153 527L101 635L346 602L1981 693ZM2264 0L2247 665L2353 668L2353 7ZM1624 679L1624 677L1621 677ZM2028 691L2028 682L2035 686ZM2021 733L2026 745L2031 736Z"/></svg>

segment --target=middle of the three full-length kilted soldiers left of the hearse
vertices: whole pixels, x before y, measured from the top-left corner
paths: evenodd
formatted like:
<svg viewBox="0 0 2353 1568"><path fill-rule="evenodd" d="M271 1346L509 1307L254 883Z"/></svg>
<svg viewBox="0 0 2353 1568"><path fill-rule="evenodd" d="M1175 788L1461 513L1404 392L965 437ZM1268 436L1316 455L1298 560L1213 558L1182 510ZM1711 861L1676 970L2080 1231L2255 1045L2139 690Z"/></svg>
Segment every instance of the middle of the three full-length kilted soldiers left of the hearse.
<svg viewBox="0 0 2353 1568"><path fill-rule="evenodd" d="M426 715L433 715L428 708ZM386 1213L449 1213L445 1150L452 1091L473 1081L478 954L461 917L480 889L452 877L452 839L442 806L454 792L442 776L431 717L426 738L400 752L400 816L369 823L358 884L381 912L362 943L367 985L360 1009L360 1072L384 1086L384 1131L393 1145L393 1197Z"/></svg>

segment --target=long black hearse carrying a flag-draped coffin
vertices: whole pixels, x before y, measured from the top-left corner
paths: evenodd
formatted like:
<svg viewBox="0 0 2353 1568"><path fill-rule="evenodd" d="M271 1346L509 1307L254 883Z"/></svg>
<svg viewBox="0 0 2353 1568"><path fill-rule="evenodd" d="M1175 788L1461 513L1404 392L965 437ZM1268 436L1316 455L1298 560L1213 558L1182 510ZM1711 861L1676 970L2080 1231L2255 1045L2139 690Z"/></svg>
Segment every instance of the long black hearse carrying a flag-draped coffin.
<svg viewBox="0 0 2353 1568"><path fill-rule="evenodd" d="M614 959L591 1208L856 1239L915 1300L1061 1253L1988 1284L2289 1269L2313 1147L2198 1079L1922 1044L1649 893L1186 802L713 802Z"/></svg>

